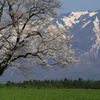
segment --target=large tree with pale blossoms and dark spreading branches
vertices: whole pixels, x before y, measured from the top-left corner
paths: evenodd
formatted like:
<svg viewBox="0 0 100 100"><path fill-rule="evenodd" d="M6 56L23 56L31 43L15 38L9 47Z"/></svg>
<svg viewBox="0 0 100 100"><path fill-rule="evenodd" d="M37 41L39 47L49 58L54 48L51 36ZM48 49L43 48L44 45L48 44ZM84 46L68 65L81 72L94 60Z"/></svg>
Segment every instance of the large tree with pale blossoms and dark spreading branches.
<svg viewBox="0 0 100 100"><path fill-rule="evenodd" d="M12 66L25 71L20 60L47 67L74 61L66 30L52 26L60 7L58 0L0 0L0 75Z"/></svg>

